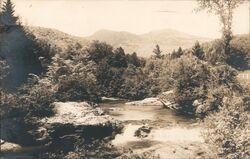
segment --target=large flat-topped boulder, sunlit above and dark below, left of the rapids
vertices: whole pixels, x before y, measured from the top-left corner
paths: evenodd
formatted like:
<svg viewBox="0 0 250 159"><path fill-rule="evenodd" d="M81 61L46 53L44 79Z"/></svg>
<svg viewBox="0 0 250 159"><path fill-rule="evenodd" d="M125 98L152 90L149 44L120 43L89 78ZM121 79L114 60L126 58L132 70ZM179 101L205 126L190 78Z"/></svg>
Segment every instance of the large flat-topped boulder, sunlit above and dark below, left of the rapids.
<svg viewBox="0 0 250 159"><path fill-rule="evenodd" d="M63 151L71 151L78 141L113 138L122 129L119 122L87 102L55 102L53 107L55 115L41 119L41 127L33 131L37 141L50 143L52 148L64 145Z"/></svg>

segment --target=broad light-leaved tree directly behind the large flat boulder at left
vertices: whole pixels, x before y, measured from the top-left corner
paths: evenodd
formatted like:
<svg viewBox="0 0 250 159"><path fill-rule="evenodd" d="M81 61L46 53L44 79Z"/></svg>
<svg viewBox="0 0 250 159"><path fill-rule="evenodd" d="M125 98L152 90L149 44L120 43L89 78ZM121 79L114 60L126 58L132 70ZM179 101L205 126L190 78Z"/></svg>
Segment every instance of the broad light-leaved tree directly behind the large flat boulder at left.
<svg viewBox="0 0 250 159"><path fill-rule="evenodd" d="M76 44L61 56L55 56L46 77L55 87L56 99L61 101L98 101L96 65L88 60L85 50Z"/></svg>

